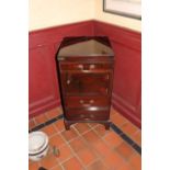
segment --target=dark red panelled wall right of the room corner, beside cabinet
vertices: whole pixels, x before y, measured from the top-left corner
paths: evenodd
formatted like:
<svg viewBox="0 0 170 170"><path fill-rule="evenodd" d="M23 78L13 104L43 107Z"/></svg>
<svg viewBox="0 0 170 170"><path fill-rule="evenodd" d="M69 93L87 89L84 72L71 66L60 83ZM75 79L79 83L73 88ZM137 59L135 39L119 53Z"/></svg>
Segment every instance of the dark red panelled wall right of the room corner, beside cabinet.
<svg viewBox="0 0 170 170"><path fill-rule="evenodd" d="M141 34L99 21L94 34L109 36L115 53L113 106L140 126Z"/></svg>

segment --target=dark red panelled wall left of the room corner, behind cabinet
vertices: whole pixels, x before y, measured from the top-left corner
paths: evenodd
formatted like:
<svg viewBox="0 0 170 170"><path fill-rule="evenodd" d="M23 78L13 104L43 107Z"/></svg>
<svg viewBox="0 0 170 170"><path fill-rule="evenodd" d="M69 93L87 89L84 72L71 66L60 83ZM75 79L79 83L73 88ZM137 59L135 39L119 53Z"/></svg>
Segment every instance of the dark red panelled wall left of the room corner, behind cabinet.
<svg viewBox="0 0 170 170"><path fill-rule="evenodd" d="M64 36L93 35L93 22L80 22L29 34L30 118L60 105L55 53Z"/></svg>

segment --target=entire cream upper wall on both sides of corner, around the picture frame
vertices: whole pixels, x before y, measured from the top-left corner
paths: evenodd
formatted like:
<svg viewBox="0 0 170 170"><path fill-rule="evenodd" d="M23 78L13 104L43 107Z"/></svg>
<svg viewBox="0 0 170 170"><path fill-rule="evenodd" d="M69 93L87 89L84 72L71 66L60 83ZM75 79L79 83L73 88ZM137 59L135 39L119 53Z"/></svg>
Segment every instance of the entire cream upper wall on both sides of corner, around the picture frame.
<svg viewBox="0 0 170 170"><path fill-rule="evenodd" d="M30 0L30 31L99 20L140 32L140 21L103 12L103 0Z"/></svg>

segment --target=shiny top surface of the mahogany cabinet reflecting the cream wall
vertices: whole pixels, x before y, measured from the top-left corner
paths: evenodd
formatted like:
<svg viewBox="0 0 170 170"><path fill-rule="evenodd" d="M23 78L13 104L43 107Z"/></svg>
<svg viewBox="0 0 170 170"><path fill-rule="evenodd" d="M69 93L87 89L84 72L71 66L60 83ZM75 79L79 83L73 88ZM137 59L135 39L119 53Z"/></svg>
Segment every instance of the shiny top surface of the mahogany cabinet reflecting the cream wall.
<svg viewBox="0 0 170 170"><path fill-rule="evenodd" d="M106 36L65 37L57 53L57 58L64 56L114 56Z"/></svg>

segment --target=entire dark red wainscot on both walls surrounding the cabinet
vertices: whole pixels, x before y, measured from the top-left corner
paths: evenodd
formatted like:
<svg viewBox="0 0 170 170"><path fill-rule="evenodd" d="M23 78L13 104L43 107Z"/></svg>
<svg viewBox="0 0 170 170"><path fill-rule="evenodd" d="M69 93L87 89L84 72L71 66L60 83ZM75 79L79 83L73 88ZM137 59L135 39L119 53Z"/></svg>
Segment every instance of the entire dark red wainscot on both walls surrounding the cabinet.
<svg viewBox="0 0 170 170"><path fill-rule="evenodd" d="M106 35L115 52L113 106L140 126L140 33L112 24L87 21L30 33L30 117L60 105L55 53L64 36Z"/></svg>

